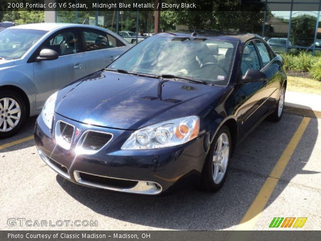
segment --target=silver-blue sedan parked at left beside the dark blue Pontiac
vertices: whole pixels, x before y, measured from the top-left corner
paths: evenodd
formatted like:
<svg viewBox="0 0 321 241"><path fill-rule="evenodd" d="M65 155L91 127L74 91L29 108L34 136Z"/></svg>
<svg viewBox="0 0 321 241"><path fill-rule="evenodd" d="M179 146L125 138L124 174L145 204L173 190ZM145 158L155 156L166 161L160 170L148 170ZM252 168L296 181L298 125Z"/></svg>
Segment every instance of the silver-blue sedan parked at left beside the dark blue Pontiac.
<svg viewBox="0 0 321 241"><path fill-rule="evenodd" d="M0 138L40 113L57 89L102 70L129 48L117 34L89 25L43 23L1 31Z"/></svg>

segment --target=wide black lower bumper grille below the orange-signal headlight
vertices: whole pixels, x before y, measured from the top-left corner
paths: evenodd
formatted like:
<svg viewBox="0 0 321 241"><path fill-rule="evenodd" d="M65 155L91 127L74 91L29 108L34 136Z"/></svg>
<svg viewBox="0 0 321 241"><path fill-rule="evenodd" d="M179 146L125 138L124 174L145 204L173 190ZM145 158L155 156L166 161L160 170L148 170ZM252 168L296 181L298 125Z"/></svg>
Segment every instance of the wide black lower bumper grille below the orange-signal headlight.
<svg viewBox="0 0 321 241"><path fill-rule="evenodd" d="M138 181L102 177L102 176L91 175L83 172L79 172L79 177L83 181L92 182L95 184L100 184L100 185L109 186L109 187L115 187L115 188L133 188L138 183Z"/></svg>

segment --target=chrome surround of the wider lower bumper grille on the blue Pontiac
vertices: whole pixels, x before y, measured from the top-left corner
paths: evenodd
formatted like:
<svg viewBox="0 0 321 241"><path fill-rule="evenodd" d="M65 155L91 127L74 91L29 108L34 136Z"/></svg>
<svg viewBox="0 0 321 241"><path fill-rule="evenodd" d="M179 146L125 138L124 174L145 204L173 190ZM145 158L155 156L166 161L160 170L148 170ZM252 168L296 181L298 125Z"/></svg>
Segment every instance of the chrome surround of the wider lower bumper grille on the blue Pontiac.
<svg viewBox="0 0 321 241"><path fill-rule="evenodd" d="M100 185L100 184L96 184L96 183L89 182L89 181L84 181L81 179L79 173L80 173L80 171L74 171L74 178L75 178L76 182L86 185L86 186L90 186L90 187L102 188L102 189L107 189L107 190L111 190L111 191L118 191L118 192L145 194L145 195L156 195L156 194L161 193L163 190L162 186L156 182L130 180L130 179L124 179L124 178L115 178L115 177L95 175L95 174L87 173L87 172L81 172L81 173L85 173L85 174L89 174L89 175L93 175L93 176L98 176L98 177L106 177L106 178L113 178L113 179L119 179L119 180L138 182L136 184L136 186L134 186L132 188L109 187L107 185L105 186L105 185ZM156 187L155 184L157 184L159 186L159 188Z"/></svg>

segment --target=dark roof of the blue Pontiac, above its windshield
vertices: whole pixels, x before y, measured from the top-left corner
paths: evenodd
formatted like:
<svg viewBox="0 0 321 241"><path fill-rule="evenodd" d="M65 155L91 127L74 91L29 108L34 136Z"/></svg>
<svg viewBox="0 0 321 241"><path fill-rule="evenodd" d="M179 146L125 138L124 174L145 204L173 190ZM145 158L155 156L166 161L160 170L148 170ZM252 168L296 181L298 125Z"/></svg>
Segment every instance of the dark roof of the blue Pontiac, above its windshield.
<svg viewBox="0 0 321 241"><path fill-rule="evenodd" d="M172 36L178 36L178 37L190 37L190 38L216 38L216 39L226 39L231 41L241 41L241 42L247 42L250 39L253 38L259 38L262 39L259 35L256 34L250 34L250 33L239 33L239 32L220 32L220 31L195 31L196 35L194 33L190 32L167 32L167 33L159 33L156 35L172 35Z"/></svg>

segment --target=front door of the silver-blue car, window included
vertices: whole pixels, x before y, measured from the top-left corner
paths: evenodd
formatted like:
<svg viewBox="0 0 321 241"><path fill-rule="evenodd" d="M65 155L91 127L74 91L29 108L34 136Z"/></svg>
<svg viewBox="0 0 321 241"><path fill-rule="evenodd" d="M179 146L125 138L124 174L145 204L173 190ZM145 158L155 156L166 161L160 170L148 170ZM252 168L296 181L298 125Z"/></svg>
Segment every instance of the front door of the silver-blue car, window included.
<svg viewBox="0 0 321 241"><path fill-rule="evenodd" d="M38 56L42 49L52 49L59 54L55 60L33 60L37 109L56 90L86 75L85 54L79 39L77 29L64 29L51 35L34 54Z"/></svg>

